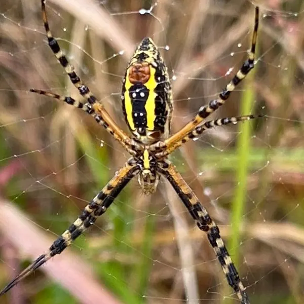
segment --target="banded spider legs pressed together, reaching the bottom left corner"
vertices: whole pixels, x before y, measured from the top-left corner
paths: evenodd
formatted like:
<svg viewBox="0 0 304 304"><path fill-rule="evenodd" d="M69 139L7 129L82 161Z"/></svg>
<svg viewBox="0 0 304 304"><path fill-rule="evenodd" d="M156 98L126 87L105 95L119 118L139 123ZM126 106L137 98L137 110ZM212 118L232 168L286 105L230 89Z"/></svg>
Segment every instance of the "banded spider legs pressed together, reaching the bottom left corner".
<svg viewBox="0 0 304 304"><path fill-rule="evenodd" d="M77 239L88 227L90 227L111 205L127 183L138 173L139 166L131 158L115 175L95 198L85 207L81 215L68 227L68 229L54 241L49 250L35 259L25 270L12 280L0 292L0 296L8 292L46 261L60 254L73 240Z"/></svg>

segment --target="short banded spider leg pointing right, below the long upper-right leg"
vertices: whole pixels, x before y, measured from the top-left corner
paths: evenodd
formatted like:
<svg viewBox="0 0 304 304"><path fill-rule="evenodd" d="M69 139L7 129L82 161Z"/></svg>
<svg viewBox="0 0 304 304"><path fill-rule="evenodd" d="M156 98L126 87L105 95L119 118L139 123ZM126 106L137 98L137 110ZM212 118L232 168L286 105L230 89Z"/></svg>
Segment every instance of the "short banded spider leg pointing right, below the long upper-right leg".
<svg viewBox="0 0 304 304"><path fill-rule="evenodd" d="M224 126L224 125L230 125L230 124L237 124L238 122L248 121L251 119L261 118L264 117L264 115L246 115L246 116L236 116L236 117L225 117L220 119L215 119L212 121L207 121L204 124L196 127L193 131L188 132L182 140L177 141L170 145L167 149L156 153L155 156L157 158L163 158L169 154L171 154L175 149L180 147L183 143L201 135L205 130L214 128L216 126Z"/></svg>

